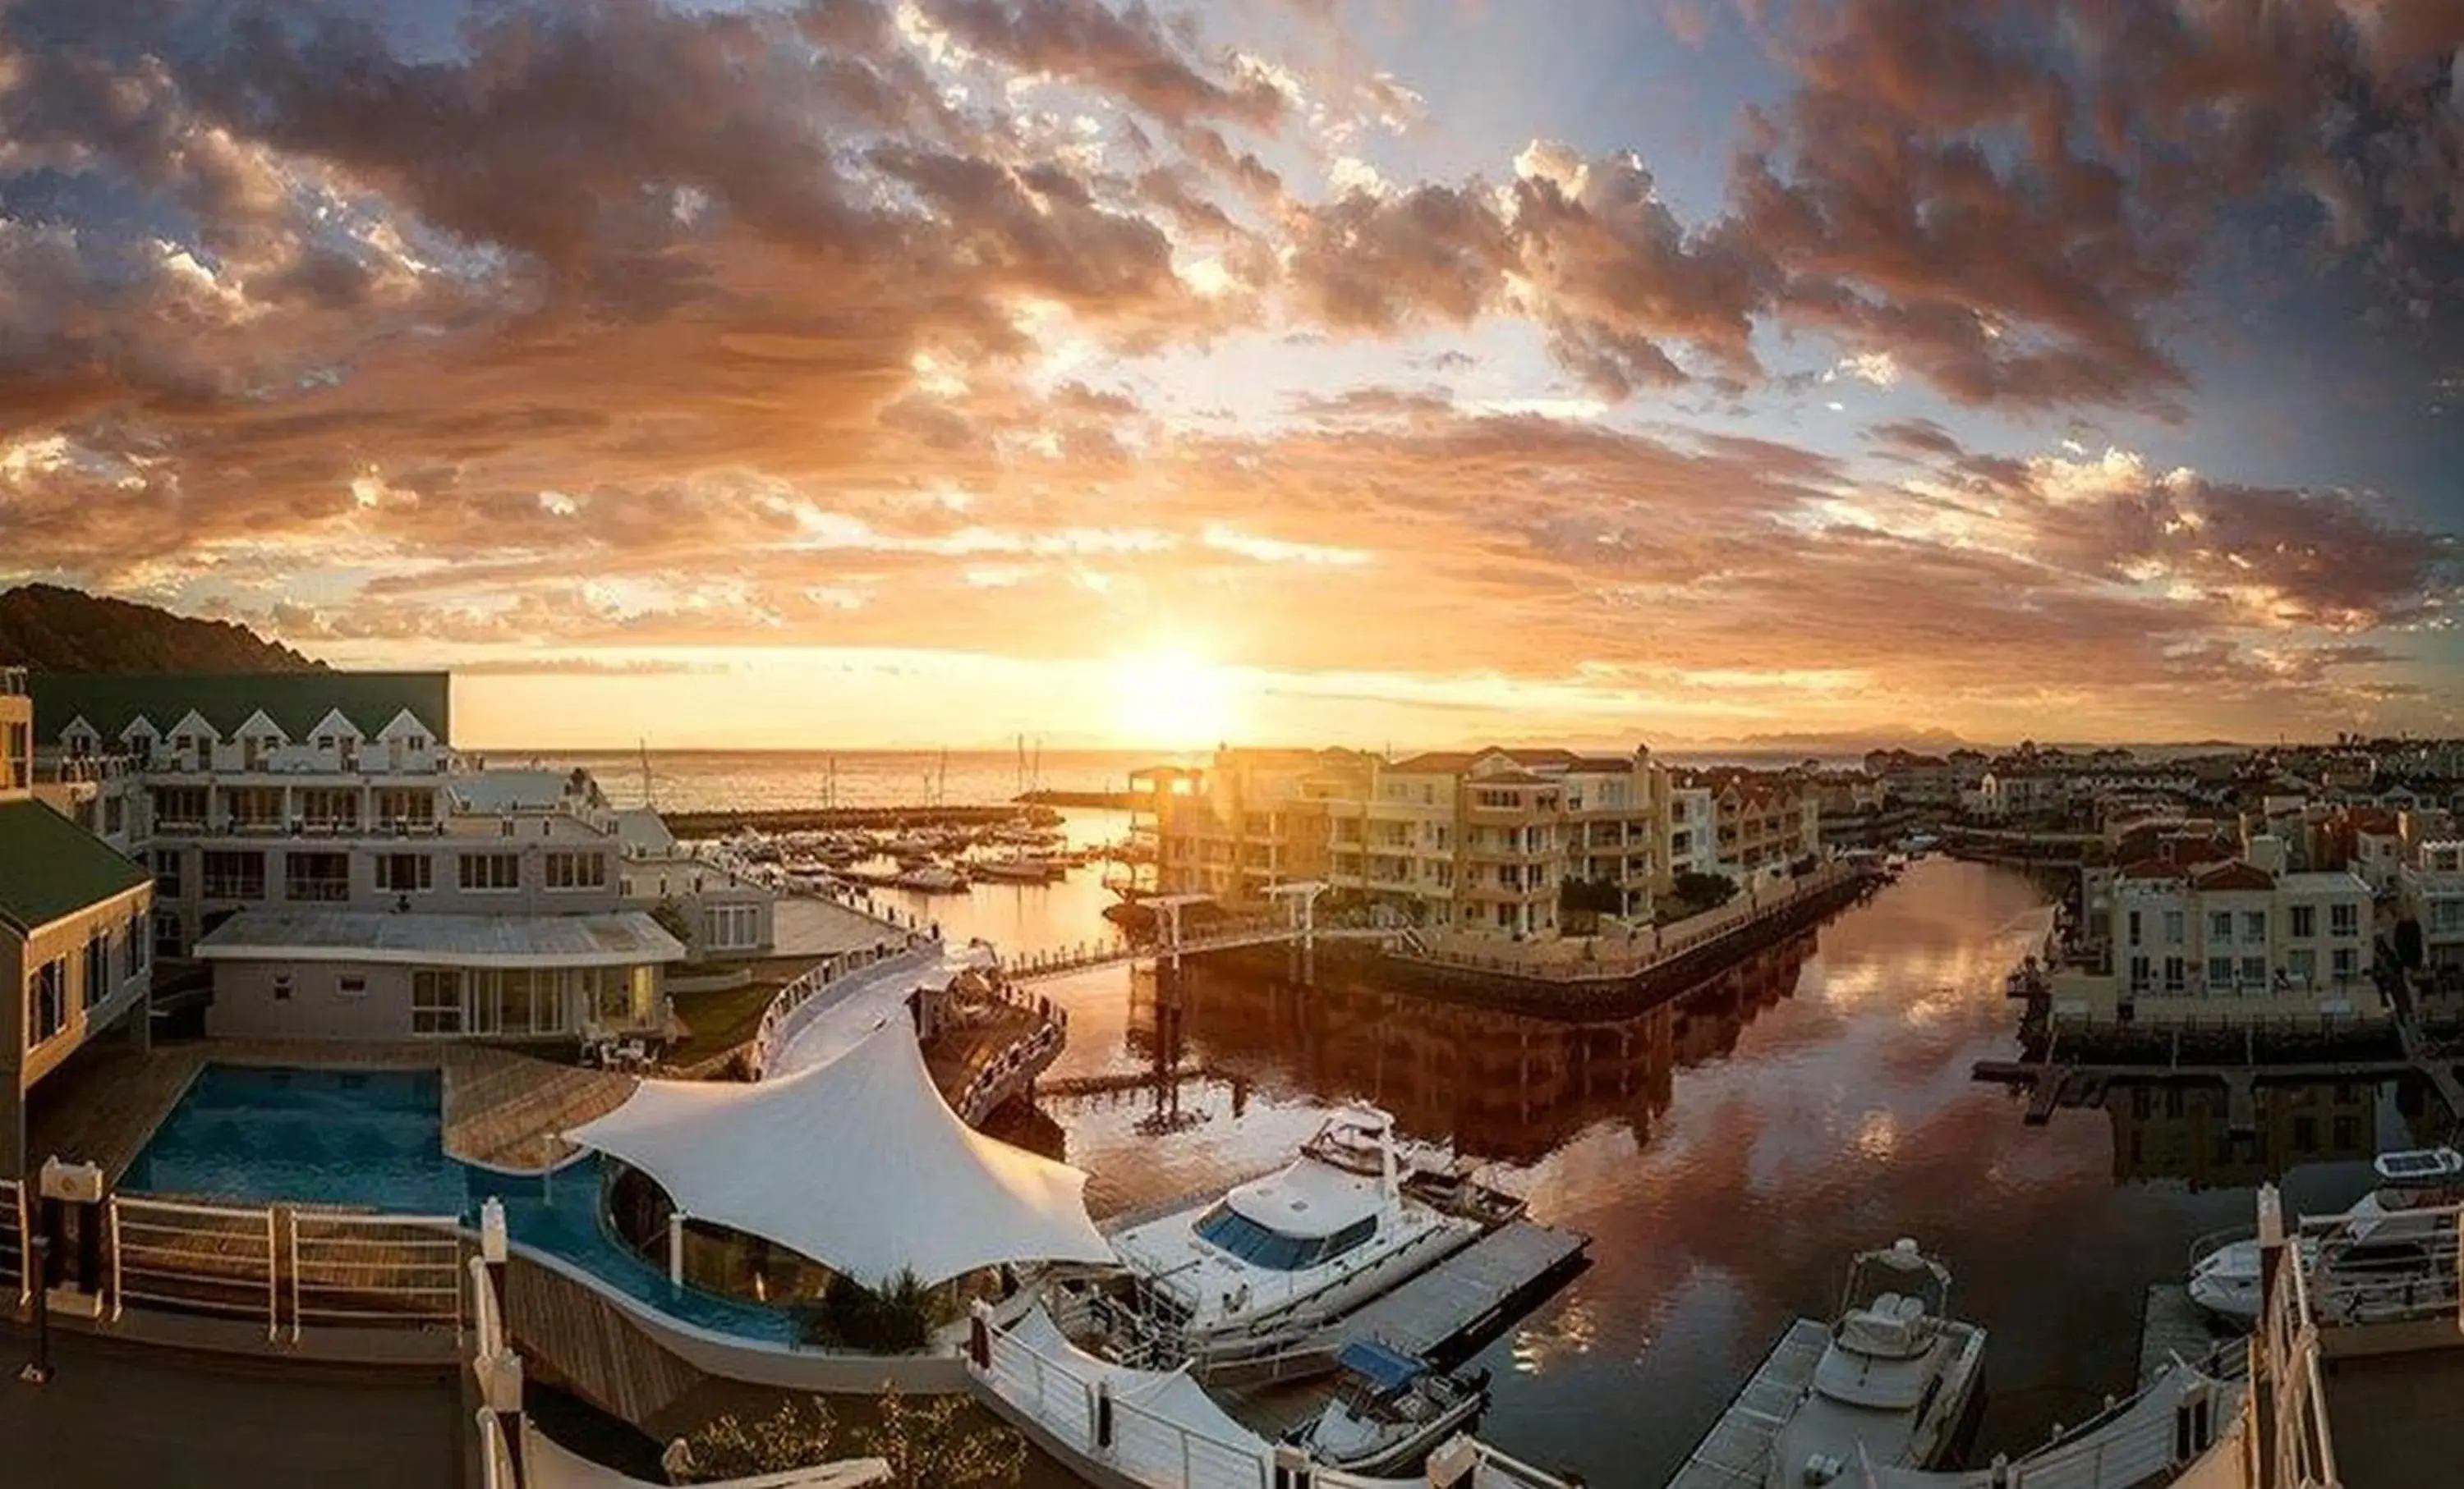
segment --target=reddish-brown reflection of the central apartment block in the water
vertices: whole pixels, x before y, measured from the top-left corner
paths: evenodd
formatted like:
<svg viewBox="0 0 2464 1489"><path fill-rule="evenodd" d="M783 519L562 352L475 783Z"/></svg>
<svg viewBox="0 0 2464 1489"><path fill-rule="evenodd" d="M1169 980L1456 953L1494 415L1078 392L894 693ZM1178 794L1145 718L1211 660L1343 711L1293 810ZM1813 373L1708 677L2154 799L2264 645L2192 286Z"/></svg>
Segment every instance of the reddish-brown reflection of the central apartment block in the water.
<svg viewBox="0 0 2464 1489"><path fill-rule="evenodd" d="M1602 1120L1639 1142L1668 1110L1680 1066L1735 1051L1796 989L1814 930L1720 977L1616 1019L1540 1019L1358 980L1303 984L1227 965L1131 975L1129 1044L1146 1061L1148 1127L1175 1127L1193 1078L1318 1100L1370 1100L1409 1137L1451 1140L1483 1162L1530 1164Z"/></svg>

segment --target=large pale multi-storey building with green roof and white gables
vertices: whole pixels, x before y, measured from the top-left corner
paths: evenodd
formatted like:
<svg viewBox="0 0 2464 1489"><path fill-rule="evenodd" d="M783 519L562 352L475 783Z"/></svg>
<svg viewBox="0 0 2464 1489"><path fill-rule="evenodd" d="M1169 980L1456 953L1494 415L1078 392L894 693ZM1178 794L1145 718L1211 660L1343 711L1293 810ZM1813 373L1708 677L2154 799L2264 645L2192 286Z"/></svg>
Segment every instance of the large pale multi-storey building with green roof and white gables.
<svg viewBox="0 0 2464 1489"><path fill-rule="evenodd" d="M39 677L32 694L37 773L81 792L96 832L118 802L153 871L153 952L212 967L212 1034L658 1029L663 967L690 955L660 920L695 945L769 945L769 896L739 916L724 874L727 908L683 876L643 901L586 773L456 753L441 672Z"/></svg>

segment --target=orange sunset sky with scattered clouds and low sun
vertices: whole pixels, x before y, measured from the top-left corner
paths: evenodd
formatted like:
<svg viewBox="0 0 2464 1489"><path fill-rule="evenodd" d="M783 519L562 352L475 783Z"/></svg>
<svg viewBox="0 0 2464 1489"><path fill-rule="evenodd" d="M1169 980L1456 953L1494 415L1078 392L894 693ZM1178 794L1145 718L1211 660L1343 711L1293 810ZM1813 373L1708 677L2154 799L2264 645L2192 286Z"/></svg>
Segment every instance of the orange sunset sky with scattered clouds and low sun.
<svg viewBox="0 0 2464 1489"><path fill-rule="evenodd" d="M463 743L2464 731L2464 5L15 0L0 583Z"/></svg>

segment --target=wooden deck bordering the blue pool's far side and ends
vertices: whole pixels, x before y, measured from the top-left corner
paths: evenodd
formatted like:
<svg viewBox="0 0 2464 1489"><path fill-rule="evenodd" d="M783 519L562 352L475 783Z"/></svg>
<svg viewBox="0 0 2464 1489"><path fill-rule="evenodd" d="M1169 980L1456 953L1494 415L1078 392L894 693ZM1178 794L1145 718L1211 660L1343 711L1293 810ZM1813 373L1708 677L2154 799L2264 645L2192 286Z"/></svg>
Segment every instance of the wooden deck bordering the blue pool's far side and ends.
<svg viewBox="0 0 2464 1489"><path fill-rule="evenodd" d="M490 1046L202 1039L96 1046L42 1093L27 1152L101 1164L118 1184L205 1066L308 1066L444 1073L446 1152L466 1164L537 1172L574 1157L557 1137L633 1095L636 1076L584 1071ZM52 1083L47 1083L52 1085Z"/></svg>

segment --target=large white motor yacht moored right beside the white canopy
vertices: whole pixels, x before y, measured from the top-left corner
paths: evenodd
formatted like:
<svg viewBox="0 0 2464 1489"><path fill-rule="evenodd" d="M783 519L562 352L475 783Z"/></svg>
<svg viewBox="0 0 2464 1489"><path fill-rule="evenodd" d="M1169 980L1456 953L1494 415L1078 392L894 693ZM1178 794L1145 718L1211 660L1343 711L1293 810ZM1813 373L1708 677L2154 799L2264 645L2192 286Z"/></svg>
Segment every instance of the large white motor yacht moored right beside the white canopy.
<svg viewBox="0 0 2464 1489"><path fill-rule="evenodd" d="M1422 1199L1395 1120L1343 1108L1284 1169L1111 1236L1119 1346L1205 1363L1311 1336L1471 1245L1491 1218ZM1323 1368L1323 1363L1318 1366Z"/></svg>

